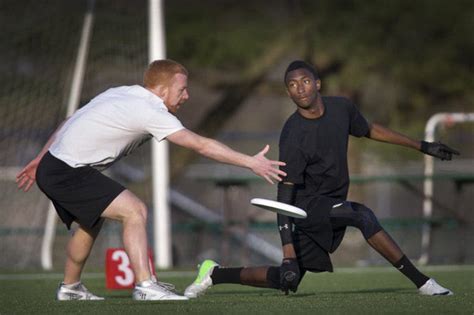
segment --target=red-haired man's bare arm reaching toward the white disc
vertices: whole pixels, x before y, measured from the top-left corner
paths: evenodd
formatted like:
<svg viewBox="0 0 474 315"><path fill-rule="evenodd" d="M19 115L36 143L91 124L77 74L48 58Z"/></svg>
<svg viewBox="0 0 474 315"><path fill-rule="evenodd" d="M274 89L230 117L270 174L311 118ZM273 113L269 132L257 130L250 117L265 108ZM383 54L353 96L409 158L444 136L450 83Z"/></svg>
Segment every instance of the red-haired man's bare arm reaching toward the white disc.
<svg viewBox="0 0 474 315"><path fill-rule="evenodd" d="M285 165L285 163L268 160L265 157L265 154L270 149L268 145L256 155L249 156L237 152L219 141L202 137L188 129L177 131L169 135L167 139L210 159L249 168L271 184L273 184L273 180L281 181L280 176L286 176L285 172L278 169L278 166Z"/></svg>

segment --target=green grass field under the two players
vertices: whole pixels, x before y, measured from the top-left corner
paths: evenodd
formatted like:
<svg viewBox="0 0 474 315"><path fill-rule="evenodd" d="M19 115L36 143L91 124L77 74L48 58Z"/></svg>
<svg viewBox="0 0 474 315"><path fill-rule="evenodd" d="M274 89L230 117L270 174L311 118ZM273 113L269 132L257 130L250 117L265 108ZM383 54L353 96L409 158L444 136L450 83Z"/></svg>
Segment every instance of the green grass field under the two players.
<svg viewBox="0 0 474 315"><path fill-rule="evenodd" d="M426 297L393 268L338 269L307 274L297 294L219 285L198 299L183 302L135 302L130 291L108 291L102 274L86 274L84 283L106 301L57 302L60 274L0 274L0 314L474 314L474 266L423 269L454 291ZM191 272L164 272L161 280L182 292Z"/></svg>

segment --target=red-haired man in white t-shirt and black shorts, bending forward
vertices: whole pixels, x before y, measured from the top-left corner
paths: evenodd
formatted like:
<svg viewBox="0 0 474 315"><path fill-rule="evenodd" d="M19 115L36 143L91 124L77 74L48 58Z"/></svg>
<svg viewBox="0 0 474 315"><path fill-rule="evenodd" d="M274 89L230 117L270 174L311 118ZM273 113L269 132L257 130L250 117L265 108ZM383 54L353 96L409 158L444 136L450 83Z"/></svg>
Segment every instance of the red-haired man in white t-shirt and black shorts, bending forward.
<svg viewBox="0 0 474 315"><path fill-rule="evenodd" d="M192 149L219 162L249 168L268 182L286 174L282 162L265 157L268 145L255 156L199 136L174 116L188 98L187 70L172 60L152 62L144 86L112 88L69 117L44 148L17 175L19 188L28 191L36 181L70 229L79 227L67 246L64 280L58 300L99 300L80 277L104 219L123 224L123 243L135 272L136 300L186 300L158 282L148 266L145 204L132 192L100 171L155 137Z"/></svg>

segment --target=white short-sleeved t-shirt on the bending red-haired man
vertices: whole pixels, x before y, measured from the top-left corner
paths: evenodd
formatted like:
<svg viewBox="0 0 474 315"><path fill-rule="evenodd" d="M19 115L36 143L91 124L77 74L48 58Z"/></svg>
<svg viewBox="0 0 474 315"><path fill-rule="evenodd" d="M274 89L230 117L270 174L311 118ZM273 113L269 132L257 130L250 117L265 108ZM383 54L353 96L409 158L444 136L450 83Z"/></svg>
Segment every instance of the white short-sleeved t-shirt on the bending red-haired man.
<svg viewBox="0 0 474 315"><path fill-rule="evenodd" d="M112 88L93 98L62 126L49 151L71 167L104 169L152 136L184 129L163 100L142 86Z"/></svg>

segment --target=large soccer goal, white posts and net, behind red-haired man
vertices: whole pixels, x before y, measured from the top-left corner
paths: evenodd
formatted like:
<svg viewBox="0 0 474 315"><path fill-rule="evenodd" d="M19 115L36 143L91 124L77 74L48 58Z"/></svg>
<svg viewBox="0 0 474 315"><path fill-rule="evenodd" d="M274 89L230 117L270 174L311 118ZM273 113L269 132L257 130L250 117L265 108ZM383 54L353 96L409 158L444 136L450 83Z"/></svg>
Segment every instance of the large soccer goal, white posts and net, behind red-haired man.
<svg viewBox="0 0 474 315"><path fill-rule="evenodd" d="M53 261L61 264L55 247L64 246L67 238L36 187L28 193L16 189L17 172L77 108L111 86L140 83L148 62L165 57L162 1L126 2L115 1L113 7L93 0L5 5L3 12L9 14L2 12L3 34L9 49L0 54L11 62L4 66L7 75L0 88L0 250L15 257L0 258L1 267L51 269ZM153 141L108 171L125 184L142 182L137 194L159 209L153 218L160 220L149 230L154 231L150 238L159 240L153 244L160 268L172 263L167 162L166 142ZM120 245L117 226L104 230L96 250Z"/></svg>

